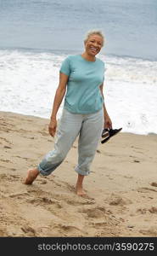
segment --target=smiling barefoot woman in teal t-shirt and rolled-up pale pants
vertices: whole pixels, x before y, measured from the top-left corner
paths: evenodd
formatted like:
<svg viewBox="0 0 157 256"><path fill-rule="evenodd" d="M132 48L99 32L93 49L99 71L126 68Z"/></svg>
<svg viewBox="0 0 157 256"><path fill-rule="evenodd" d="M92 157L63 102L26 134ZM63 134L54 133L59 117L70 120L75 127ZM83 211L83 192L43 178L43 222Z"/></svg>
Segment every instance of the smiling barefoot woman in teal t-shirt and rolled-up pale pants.
<svg viewBox="0 0 157 256"><path fill-rule="evenodd" d="M59 121L57 142L42 162L27 172L25 184L31 184L37 175L49 175L64 160L79 135L78 173L76 194L85 195L83 179L90 173L98 141L103 128L112 128L112 122L104 105L104 62L96 58L104 45L102 32L88 32L81 55L70 55L62 63L59 87L53 101L53 111L48 126L54 137L57 129L56 115L64 98L64 109ZM66 94L65 94L66 91Z"/></svg>

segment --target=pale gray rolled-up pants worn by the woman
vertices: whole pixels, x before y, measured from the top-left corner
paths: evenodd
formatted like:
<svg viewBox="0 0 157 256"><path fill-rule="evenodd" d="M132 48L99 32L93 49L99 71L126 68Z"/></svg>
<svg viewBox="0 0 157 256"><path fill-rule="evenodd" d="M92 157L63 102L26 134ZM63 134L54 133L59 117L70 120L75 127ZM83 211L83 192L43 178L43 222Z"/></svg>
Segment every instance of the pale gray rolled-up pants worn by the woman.
<svg viewBox="0 0 157 256"><path fill-rule="evenodd" d="M78 141L78 164L76 172L81 175L90 173L90 165L96 153L104 126L103 108L96 113L70 113L63 109L54 148L37 166L39 172L47 176L53 172L68 154L76 137Z"/></svg>

